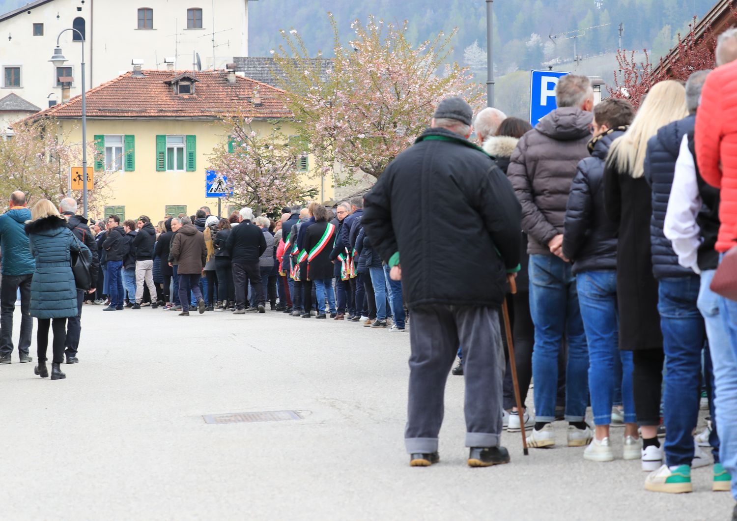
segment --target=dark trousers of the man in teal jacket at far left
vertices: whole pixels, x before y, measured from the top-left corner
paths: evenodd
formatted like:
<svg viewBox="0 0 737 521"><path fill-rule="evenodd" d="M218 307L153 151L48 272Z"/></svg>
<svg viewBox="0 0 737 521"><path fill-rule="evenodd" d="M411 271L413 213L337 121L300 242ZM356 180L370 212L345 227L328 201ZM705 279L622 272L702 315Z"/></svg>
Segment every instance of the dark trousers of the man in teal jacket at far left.
<svg viewBox="0 0 737 521"><path fill-rule="evenodd" d="M21 289L21 338L18 352L28 354L31 346L33 318L28 310L31 304L31 279L28 275L4 275L0 283L0 356L7 357L13 352L13 312L18 288Z"/></svg>

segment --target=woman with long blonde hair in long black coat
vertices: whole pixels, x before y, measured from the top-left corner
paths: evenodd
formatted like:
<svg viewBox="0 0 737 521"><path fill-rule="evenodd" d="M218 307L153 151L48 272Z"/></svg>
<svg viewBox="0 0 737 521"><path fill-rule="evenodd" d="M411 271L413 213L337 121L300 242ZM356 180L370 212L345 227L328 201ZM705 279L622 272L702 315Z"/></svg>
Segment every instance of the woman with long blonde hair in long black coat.
<svg viewBox="0 0 737 521"><path fill-rule="evenodd" d="M657 311L658 288L652 273L650 219L652 193L644 177L647 142L657 130L688 111L682 83L667 80L650 89L629 130L612 143L604 168L604 209L618 225L617 298L619 347L633 352L632 388L643 437L643 470L660 467L657 440L663 335Z"/></svg>

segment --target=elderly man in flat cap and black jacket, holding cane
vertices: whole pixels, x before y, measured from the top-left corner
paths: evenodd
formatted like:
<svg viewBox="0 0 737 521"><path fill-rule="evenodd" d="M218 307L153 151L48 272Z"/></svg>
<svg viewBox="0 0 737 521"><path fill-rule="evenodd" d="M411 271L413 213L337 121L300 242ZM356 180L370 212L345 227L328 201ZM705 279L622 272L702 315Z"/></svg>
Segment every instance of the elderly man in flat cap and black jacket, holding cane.
<svg viewBox="0 0 737 521"><path fill-rule="evenodd" d="M364 205L366 234L392 278L401 278L412 313L405 430L411 466L439 461L445 382L459 344L466 355L468 464L509 462L500 447L504 354L498 313L506 275L519 269L521 211L503 172L468 141L471 121L463 99L440 102L431 128L389 164ZM469 243L479 255L458 254Z"/></svg>

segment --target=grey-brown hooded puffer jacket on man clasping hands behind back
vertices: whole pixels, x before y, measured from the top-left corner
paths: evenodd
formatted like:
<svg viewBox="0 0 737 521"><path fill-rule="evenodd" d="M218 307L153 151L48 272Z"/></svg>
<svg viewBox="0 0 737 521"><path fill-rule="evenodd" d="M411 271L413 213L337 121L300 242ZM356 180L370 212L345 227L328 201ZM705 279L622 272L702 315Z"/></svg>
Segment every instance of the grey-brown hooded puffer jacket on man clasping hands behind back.
<svg viewBox="0 0 737 521"><path fill-rule="evenodd" d="M576 166L589 156L592 113L558 108L517 144L507 175L522 205L528 253L552 255L548 242L563 233L565 206Z"/></svg>

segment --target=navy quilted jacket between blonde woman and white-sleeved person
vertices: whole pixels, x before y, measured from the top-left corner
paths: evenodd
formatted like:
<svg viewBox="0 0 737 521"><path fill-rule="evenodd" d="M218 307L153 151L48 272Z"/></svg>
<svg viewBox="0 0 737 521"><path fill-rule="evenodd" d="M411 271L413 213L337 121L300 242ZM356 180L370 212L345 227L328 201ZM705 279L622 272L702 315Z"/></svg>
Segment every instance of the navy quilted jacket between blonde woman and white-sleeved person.
<svg viewBox="0 0 737 521"><path fill-rule="evenodd" d="M676 169L676 160L681 141L689 130L694 130L696 116L668 123L661 127L647 142L645 156L645 178L652 189L652 217L650 220L650 243L652 245L652 273L656 279L663 277L692 276L694 272L678 264L671 241L663 235L668 199Z"/></svg>

